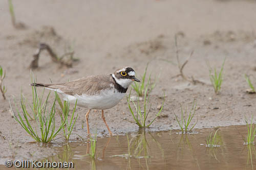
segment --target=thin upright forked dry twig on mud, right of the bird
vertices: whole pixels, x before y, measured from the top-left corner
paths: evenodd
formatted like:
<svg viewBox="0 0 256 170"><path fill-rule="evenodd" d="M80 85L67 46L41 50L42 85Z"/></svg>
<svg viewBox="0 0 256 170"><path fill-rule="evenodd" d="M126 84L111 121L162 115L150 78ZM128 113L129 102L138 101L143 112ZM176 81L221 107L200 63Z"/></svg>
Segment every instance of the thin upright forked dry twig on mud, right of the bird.
<svg viewBox="0 0 256 170"><path fill-rule="evenodd" d="M181 65L180 63L180 59L179 59L179 49L178 49L178 43L177 43L177 35L175 35L175 51L176 51L176 58L177 58L177 62L178 62L178 67L179 67L179 70L180 70L180 74L172 77L172 78L175 78L175 77L179 77L181 76L184 80L186 81L189 81L193 84L197 84L197 83L201 83L202 85L204 85L205 83L204 82L201 82L199 80L195 80L194 77L192 76L191 78L188 78L186 77L184 74L183 74L183 68L185 67L185 65L188 63L188 60L192 57L193 53L194 53L194 50L190 53L190 55L188 56L188 58L185 60L185 62Z"/></svg>

